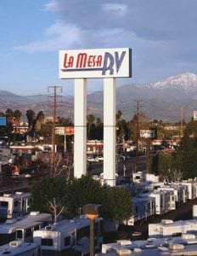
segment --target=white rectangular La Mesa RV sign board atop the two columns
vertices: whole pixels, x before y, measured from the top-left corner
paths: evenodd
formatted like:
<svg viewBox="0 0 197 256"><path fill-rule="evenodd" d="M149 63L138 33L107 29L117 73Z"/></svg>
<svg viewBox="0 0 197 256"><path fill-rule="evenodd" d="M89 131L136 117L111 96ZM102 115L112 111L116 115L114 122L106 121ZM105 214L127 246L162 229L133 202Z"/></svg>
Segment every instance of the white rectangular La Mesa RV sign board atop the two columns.
<svg viewBox="0 0 197 256"><path fill-rule="evenodd" d="M129 48L59 50L59 78L129 78L131 60Z"/></svg>

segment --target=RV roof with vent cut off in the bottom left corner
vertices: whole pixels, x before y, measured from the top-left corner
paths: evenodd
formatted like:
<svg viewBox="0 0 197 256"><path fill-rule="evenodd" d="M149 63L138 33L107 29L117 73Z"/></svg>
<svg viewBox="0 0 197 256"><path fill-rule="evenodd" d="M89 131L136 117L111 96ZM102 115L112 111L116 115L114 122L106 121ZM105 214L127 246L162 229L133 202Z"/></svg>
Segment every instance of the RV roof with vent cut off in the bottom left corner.
<svg viewBox="0 0 197 256"><path fill-rule="evenodd" d="M10 241L8 244L0 246L0 255L10 256L37 256L37 244L22 241Z"/></svg>

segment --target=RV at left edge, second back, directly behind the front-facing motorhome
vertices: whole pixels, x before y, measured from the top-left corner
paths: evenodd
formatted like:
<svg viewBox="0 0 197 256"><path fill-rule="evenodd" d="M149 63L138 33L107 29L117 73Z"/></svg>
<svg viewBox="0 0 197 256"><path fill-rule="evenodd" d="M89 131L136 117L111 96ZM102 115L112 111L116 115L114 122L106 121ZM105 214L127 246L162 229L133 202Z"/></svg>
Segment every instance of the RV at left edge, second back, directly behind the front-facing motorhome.
<svg viewBox="0 0 197 256"><path fill-rule="evenodd" d="M0 245L12 240L32 241L33 231L50 224L51 214L31 212L27 216L7 219L0 224Z"/></svg>

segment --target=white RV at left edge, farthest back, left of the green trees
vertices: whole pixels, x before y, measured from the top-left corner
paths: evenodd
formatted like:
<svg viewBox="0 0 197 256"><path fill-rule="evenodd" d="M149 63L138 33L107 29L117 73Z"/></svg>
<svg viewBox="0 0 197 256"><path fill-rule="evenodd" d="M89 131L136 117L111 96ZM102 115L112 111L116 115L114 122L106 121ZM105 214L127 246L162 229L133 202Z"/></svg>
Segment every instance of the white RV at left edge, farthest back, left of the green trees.
<svg viewBox="0 0 197 256"><path fill-rule="evenodd" d="M0 196L0 217L17 218L30 212L31 193L15 192Z"/></svg>

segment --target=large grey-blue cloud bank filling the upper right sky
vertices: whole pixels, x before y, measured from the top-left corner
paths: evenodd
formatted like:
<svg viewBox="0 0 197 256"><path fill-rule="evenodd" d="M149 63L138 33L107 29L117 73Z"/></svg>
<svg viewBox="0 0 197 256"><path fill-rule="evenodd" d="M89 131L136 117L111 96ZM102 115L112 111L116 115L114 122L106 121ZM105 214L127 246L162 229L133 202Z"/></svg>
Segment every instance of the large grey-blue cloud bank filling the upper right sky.
<svg viewBox="0 0 197 256"><path fill-rule="evenodd" d="M41 41L14 49L130 47L138 77L155 77L158 69L181 72L185 63L194 69L197 59L196 8L196 0L48 0L44 11L59 21Z"/></svg>

